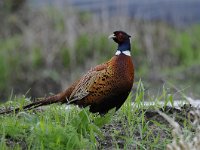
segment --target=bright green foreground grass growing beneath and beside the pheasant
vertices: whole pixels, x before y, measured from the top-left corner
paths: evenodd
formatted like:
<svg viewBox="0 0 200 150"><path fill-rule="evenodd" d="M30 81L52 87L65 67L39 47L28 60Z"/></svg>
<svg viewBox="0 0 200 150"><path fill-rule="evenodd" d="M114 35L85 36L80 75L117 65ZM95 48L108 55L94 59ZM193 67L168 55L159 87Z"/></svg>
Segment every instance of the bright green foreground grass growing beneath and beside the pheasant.
<svg viewBox="0 0 200 150"><path fill-rule="evenodd" d="M21 111L18 114L0 116L1 149L166 149L173 140L172 126L163 118L146 118L149 110L157 110L159 105L145 106L146 91L139 81L135 94L130 94L122 108L100 116L92 114L88 108L54 104L43 109ZM135 104L132 100L135 98ZM173 103L165 88L154 100ZM21 107L30 103L24 97L15 98L2 104L0 108ZM184 112L183 112L184 113ZM184 136L191 137L193 128L190 120L182 114L172 114L182 129ZM106 144L107 143L107 144Z"/></svg>

